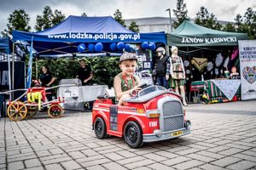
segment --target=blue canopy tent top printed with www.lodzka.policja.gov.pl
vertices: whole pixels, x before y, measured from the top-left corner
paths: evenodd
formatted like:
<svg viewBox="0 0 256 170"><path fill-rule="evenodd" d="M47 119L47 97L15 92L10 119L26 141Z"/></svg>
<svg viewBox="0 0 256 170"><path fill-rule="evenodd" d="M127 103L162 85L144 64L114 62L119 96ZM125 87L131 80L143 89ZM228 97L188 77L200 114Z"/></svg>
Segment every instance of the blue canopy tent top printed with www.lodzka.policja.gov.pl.
<svg viewBox="0 0 256 170"><path fill-rule="evenodd" d="M73 56L77 54L79 43L102 42L162 42L166 44L165 32L135 33L121 26L111 16L107 17L82 17L69 16L59 25L45 31L26 32L13 31L13 41L33 41L33 48L38 51L38 56L58 57ZM103 51L109 51L104 45Z"/></svg>

